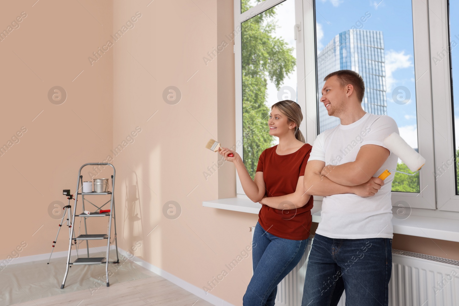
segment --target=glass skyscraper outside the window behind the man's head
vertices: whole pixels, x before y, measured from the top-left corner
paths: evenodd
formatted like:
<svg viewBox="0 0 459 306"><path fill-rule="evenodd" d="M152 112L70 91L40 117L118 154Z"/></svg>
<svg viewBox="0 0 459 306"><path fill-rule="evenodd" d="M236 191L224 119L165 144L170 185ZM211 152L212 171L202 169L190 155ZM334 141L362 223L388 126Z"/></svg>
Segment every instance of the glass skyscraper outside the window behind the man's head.
<svg viewBox="0 0 459 306"><path fill-rule="evenodd" d="M322 97L324 78L337 70L358 72L365 82L362 101L364 111L386 114L386 69L384 65L384 39L381 31L347 30L336 35L317 56L319 99ZM340 123L338 117L329 116L319 102L319 133Z"/></svg>

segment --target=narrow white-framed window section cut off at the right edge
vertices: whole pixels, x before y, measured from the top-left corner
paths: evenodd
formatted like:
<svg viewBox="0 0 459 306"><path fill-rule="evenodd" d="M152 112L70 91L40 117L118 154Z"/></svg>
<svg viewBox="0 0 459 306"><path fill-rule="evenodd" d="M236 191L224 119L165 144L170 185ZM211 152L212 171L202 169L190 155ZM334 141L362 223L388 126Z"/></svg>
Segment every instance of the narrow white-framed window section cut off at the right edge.
<svg viewBox="0 0 459 306"><path fill-rule="evenodd" d="M449 7L448 7L449 5ZM457 1L431 0L431 69L437 208L459 211L459 13Z"/></svg>

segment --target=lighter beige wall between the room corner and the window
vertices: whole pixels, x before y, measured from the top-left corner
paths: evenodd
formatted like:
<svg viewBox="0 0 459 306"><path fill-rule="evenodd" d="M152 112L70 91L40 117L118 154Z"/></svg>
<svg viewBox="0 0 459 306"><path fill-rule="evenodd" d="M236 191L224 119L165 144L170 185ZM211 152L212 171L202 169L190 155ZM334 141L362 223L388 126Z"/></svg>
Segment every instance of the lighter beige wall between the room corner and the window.
<svg viewBox="0 0 459 306"><path fill-rule="evenodd" d="M251 244L249 227L257 222L256 215L202 207L204 200L235 196L234 165L225 163L207 179L203 175L219 156L205 149L209 139L235 145L233 47L207 65L202 59L221 40L229 43L224 35L234 29L233 5L153 1L146 7L148 2L116 1L113 8L114 28L142 13L114 53L113 141L142 128L115 161L121 176L118 211L126 220L119 237L123 249L140 239L143 246L135 255L202 288L223 269L229 272L225 264ZM168 86L179 88L179 103L163 100ZM162 212L170 200L181 207L176 219ZM251 267L251 257L243 259L211 293L241 305Z"/></svg>

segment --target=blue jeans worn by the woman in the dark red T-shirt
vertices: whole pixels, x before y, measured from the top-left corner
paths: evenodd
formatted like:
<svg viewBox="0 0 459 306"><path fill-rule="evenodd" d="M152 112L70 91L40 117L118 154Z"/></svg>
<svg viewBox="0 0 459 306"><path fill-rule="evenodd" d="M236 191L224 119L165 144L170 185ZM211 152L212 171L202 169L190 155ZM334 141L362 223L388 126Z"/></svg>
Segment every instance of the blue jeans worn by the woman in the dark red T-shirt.
<svg viewBox="0 0 459 306"><path fill-rule="evenodd" d="M253 276L243 306L274 306L277 285L298 264L308 239L291 240L269 234L257 222L253 231Z"/></svg>

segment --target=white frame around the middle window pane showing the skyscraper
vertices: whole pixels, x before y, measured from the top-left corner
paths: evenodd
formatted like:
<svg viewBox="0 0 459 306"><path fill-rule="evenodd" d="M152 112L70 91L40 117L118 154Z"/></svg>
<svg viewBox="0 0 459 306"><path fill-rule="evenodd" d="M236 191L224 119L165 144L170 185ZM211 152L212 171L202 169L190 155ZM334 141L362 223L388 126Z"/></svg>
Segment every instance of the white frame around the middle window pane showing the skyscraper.
<svg viewBox="0 0 459 306"><path fill-rule="evenodd" d="M308 1L306 1L308 2ZM309 31L313 30L314 44L313 48L308 48L305 53L306 73L313 71L310 75L314 75L315 78L307 79L306 84L306 111L309 114L315 112L315 117L307 117L307 139L309 144L313 144L314 139L318 134L318 121L319 111L317 107L317 101L319 99L319 89L317 89L317 48L315 40L315 1L308 2L308 5L304 7L304 16L313 16L313 22L304 21L304 28L308 28ZM420 181L420 193L415 192L397 192L392 191L392 206L398 206L399 201L405 201L412 208L424 208L424 209L436 209L435 191L436 188L428 189L427 186L435 186L434 178L429 175L434 170L434 158L433 158L433 123L432 118L432 100L431 100L431 76L430 73L430 53L429 53L429 32L428 32L428 8L422 2L422 0L412 1L412 14L413 14L413 41L414 41L414 69L415 76L418 76L416 81L416 120L417 120L417 132L418 132L418 150L419 153L425 158L425 165L419 172ZM305 29L305 33L307 30ZM305 40L307 41L307 40ZM312 70L314 69L314 70ZM422 71L422 72L421 72ZM425 73L423 75L423 73ZM312 120L312 117L315 120ZM430 119L430 121L429 121ZM429 124L425 124L428 122ZM423 135L423 137L419 137ZM392 172L394 173L394 172ZM314 199L316 197L314 196Z"/></svg>

